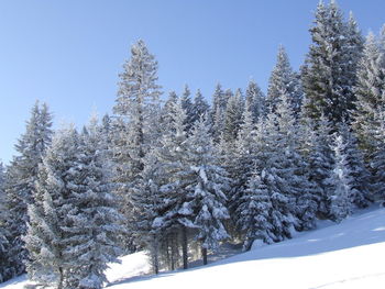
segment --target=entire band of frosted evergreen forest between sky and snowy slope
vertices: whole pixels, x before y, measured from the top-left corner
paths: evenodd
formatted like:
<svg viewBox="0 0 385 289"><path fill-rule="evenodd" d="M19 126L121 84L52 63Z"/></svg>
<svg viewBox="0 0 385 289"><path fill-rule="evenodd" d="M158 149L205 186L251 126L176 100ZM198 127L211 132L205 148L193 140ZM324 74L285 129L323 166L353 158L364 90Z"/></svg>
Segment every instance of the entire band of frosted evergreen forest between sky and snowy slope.
<svg viewBox="0 0 385 289"><path fill-rule="evenodd" d="M0 281L101 288L123 252L187 268L226 240L250 249L384 201L385 30L365 41L332 1L310 33L298 73L279 47L266 96L250 81L163 101L139 41L111 115L54 132L36 103L0 174Z"/></svg>

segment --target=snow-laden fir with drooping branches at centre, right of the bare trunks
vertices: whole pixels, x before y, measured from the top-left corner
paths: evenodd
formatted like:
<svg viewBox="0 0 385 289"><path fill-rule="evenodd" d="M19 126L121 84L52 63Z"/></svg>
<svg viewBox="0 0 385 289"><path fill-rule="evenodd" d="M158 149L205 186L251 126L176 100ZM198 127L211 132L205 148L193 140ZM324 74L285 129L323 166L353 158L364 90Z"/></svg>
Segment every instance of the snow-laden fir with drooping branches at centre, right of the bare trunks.
<svg viewBox="0 0 385 289"><path fill-rule="evenodd" d="M193 201L185 209L194 211L193 222L198 229L197 240L201 244L205 265L208 249L216 251L219 242L229 237L223 226L223 221L229 219L224 194L228 179L217 163L209 126L200 118L189 138L188 165L193 176L187 189Z"/></svg>

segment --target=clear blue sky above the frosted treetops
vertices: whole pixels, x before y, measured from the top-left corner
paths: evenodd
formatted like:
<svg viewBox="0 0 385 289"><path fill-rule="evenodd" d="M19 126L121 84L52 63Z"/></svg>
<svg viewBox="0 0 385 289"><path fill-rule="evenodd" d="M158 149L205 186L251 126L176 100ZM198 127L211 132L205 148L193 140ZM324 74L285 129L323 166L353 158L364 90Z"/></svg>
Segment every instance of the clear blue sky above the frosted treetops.
<svg viewBox="0 0 385 289"><path fill-rule="evenodd" d="M84 124L113 105L130 45L143 38L164 91L184 84L210 97L215 85L265 90L277 47L298 68L318 0L1 0L0 159L9 162L36 99L55 125ZM384 0L340 0L366 34L385 22Z"/></svg>

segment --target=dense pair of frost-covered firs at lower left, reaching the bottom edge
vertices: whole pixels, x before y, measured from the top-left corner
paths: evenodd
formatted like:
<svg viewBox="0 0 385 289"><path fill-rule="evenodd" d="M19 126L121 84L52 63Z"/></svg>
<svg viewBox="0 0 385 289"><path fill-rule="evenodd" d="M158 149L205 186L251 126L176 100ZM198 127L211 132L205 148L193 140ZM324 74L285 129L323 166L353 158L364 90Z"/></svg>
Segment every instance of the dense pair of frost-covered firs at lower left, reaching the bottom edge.
<svg viewBox="0 0 385 289"><path fill-rule="evenodd" d="M24 238L28 271L38 284L101 288L107 263L120 253L116 238L121 216L100 140L96 124L81 135L73 127L62 130L40 167Z"/></svg>

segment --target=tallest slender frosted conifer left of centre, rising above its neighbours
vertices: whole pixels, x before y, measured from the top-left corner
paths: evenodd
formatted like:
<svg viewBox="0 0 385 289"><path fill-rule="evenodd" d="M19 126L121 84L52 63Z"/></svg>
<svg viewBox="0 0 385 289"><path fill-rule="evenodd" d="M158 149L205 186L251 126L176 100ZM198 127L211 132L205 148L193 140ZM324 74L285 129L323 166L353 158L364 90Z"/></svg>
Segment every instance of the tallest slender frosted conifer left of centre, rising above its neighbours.
<svg viewBox="0 0 385 289"><path fill-rule="evenodd" d="M157 62L143 41L131 47L131 58L120 74L119 91L113 112L117 114L113 133L113 159L116 163L117 193L121 198L121 212L125 225L135 221L132 214L131 193L140 181L145 154L160 136L160 95ZM123 236L127 249L138 244L127 230Z"/></svg>

